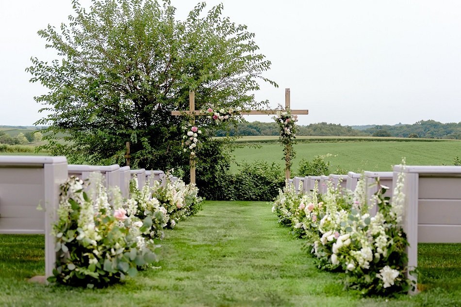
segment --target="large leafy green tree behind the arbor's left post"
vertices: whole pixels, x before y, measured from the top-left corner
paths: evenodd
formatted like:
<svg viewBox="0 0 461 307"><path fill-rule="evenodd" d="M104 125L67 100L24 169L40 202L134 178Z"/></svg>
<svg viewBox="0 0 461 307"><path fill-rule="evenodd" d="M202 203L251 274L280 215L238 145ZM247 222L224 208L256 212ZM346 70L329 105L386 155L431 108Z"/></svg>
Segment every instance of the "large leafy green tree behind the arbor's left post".
<svg viewBox="0 0 461 307"><path fill-rule="evenodd" d="M72 4L67 24L38 31L58 59L32 58L26 69L31 82L49 89L35 97L49 114L36 123L49 125L46 147L70 162L123 164L130 141L134 167L185 166L184 118L170 114L188 108L190 90L196 108L249 109L266 103L251 94L259 80L277 86L263 77L270 61L258 53L254 34L223 17L222 4L206 13L199 3L184 21L168 0ZM198 117L198 125L206 120Z"/></svg>

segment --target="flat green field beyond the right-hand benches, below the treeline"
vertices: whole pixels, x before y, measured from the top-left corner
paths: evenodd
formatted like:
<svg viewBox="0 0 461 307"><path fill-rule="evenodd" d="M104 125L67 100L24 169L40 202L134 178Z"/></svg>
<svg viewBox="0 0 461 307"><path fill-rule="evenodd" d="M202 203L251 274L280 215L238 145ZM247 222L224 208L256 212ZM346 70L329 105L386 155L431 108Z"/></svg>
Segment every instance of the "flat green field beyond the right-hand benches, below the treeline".
<svg viewBox="0 0 461 307"><path fill-rule="evenodd" d="M461 157L461 141L343 141L343 142L299 142L295 145L296 158L292 170L298 169L301 158L312 160L315 155L332 154L328 161L334 171L341 166L347 171L390 171L402 157L407 165L453 165L453 158ZM281 144L262 143L261 148L238 148L234 151L237 163L264 160L284 165ZM237 169L235 164L232 169Z"/></svg>

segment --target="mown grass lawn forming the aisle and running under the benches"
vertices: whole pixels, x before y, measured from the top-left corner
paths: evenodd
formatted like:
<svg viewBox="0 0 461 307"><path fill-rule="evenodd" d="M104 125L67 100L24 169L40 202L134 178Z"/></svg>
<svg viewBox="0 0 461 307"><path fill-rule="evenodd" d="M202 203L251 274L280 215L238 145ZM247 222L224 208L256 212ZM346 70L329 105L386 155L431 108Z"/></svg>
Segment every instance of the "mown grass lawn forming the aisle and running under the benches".
<svg viewBox="0 0 461 307"><path fill-rule="evenodd" d="M362 298L342 273L318 270L264 202L206 201L168 230L162 261L105 289L32 284L43 236L0 235L0 306L459 306L459 245L421 245L417 296Z"/></svg>

